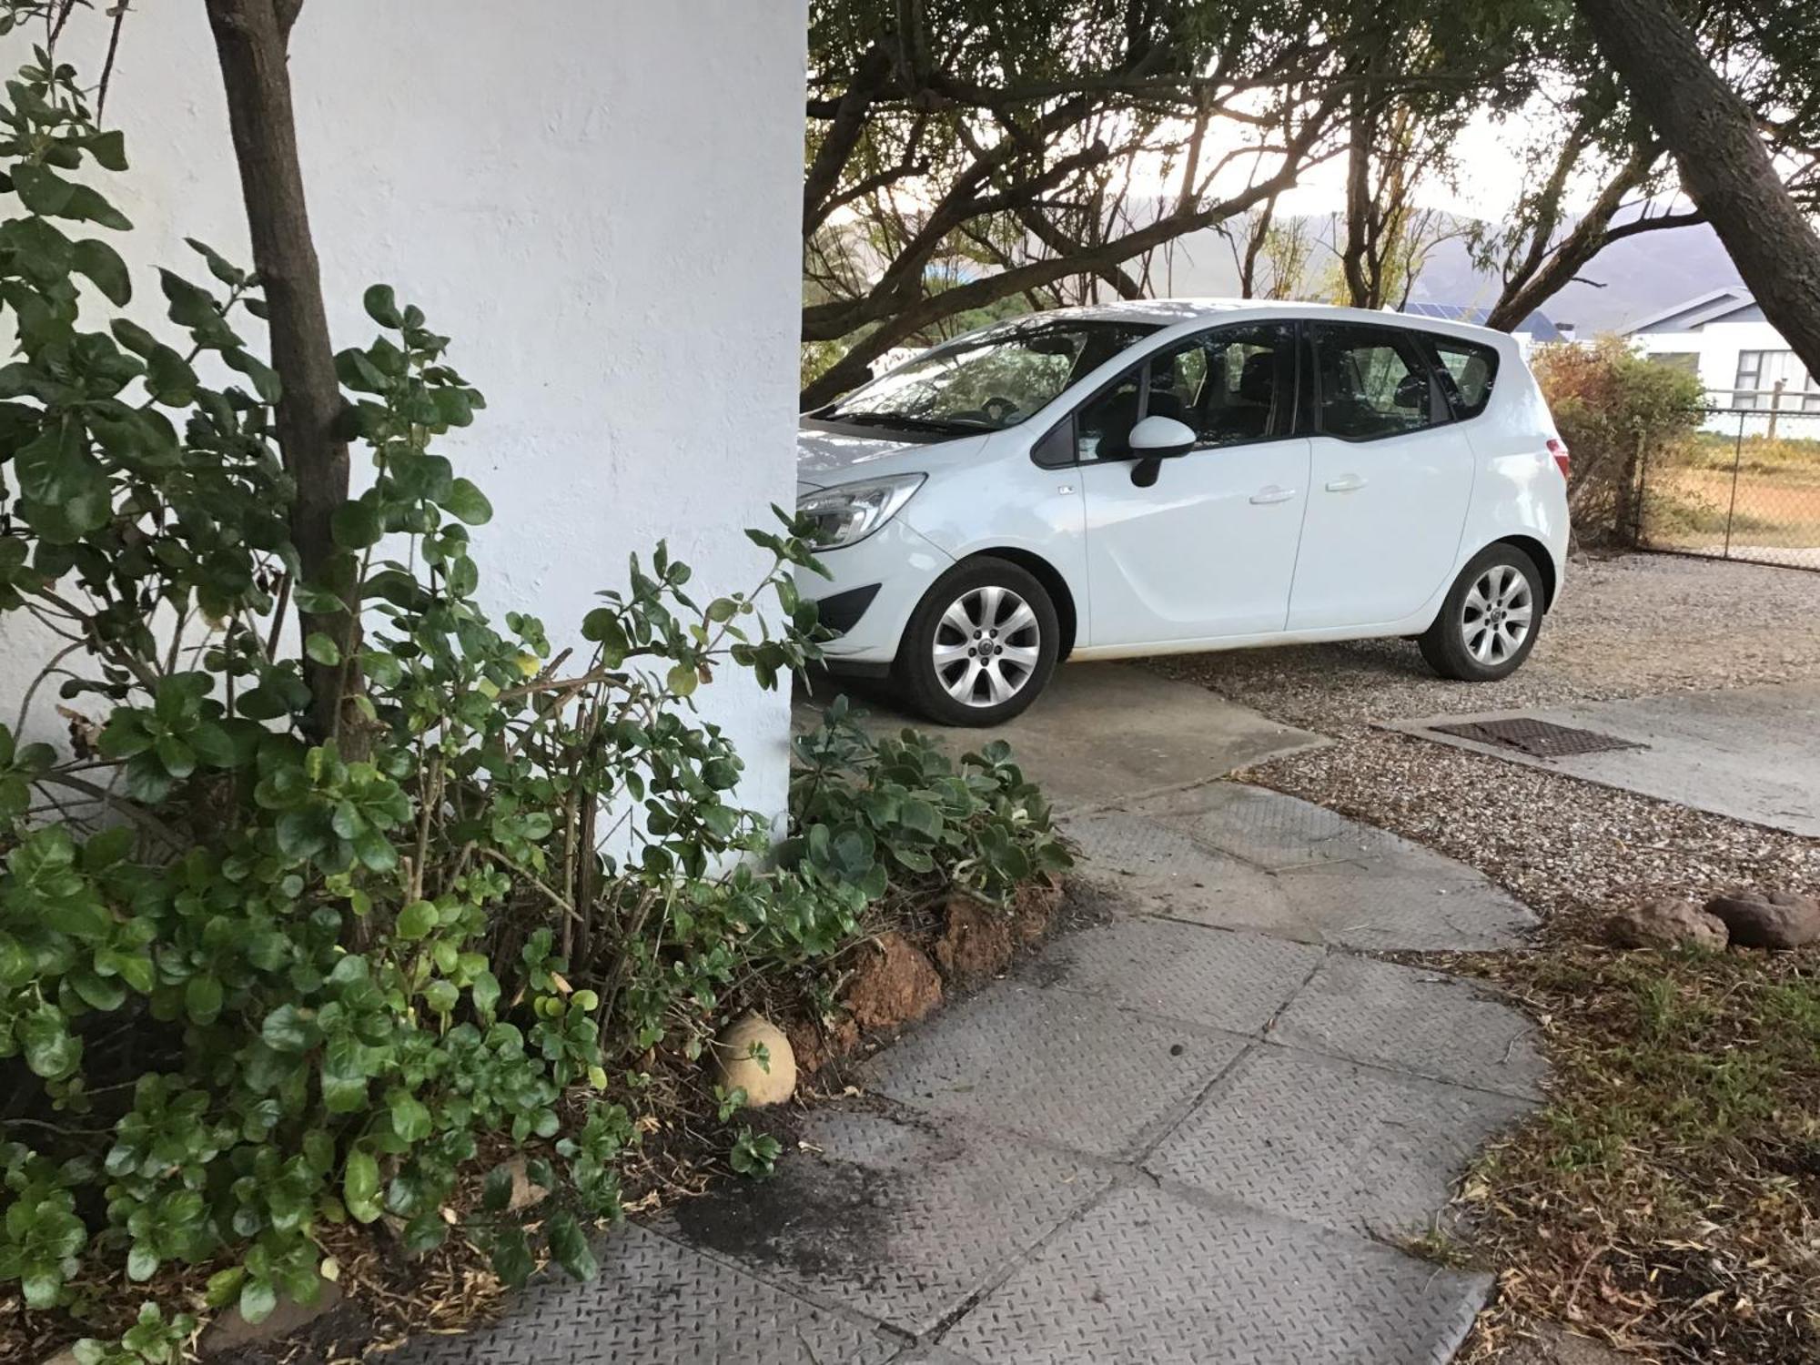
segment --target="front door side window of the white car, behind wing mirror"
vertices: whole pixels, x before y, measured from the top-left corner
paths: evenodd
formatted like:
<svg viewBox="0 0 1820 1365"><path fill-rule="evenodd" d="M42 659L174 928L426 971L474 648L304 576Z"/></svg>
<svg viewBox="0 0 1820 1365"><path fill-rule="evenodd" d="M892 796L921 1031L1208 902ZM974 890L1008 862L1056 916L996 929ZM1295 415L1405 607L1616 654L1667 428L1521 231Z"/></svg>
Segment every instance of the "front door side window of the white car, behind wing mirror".
<svg viewBox="0 0 1820 1365"><path fill-rule="evenodd" d="M1290 322L1216 328L1132 369L1076 415L1079 460L1130 455L1130 430L1145 417L1174 417L1196 450L1285 435L1294 402Z"/></svg>

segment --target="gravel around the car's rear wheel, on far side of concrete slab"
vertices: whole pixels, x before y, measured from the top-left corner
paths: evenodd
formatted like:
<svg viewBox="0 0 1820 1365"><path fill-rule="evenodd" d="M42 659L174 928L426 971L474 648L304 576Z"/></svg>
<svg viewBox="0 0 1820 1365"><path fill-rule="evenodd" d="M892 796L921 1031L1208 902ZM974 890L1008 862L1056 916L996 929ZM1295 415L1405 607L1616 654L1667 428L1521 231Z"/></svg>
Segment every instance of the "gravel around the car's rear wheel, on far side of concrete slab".
<svg viewBox="0 0 1820 1365"><path fill-rule="evenodd" d="M1673 555L1569 564L1560 610L1502 682L1449 682L1414 641L1170 655L1150 666L1329 735L1443 712L1558 706L1820 675L1820 573Z"/></svg>

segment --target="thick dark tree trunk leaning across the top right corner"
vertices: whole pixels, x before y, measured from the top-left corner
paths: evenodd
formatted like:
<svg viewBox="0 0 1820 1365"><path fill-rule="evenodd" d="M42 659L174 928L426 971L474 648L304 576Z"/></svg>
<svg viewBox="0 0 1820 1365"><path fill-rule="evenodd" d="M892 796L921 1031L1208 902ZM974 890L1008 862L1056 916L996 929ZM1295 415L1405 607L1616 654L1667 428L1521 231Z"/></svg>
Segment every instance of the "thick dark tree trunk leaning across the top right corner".
<svg viewBox="0 0 1820 1365"><path fill-rule="evenodd" d="M1820 375L1820 237L1756 120L1665 0L1574 0L1776 331Z"/></svg>

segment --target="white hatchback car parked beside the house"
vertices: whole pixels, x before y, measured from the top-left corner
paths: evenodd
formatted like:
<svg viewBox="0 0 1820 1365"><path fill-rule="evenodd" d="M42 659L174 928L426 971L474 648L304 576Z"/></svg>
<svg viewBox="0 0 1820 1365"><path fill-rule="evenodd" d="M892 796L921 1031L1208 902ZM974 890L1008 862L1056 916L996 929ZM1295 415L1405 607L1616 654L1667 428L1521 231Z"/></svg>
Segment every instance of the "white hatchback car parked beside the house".
<svg viewBox="0 0 1820 1365"><path fill-rule="evenodd" d="M1421 639L1503 677L1562 590L1567 448L1516 344L1314 304L1072 308L801 420L835 672L996 724L1063 659Z"/></svg>

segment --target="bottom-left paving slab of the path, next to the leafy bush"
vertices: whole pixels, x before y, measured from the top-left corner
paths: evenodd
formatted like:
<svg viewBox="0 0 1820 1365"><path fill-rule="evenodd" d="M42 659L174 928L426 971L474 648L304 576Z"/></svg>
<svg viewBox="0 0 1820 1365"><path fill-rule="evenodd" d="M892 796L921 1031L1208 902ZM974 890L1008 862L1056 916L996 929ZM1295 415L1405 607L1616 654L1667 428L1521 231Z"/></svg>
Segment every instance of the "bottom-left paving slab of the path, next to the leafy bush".
<svg viewBox="0 0 1820 1365"><path fill-rule="evenodd" d="M817 1309L642 1227L601 1247L588 1283L542 1276L499 1323L462 1336L419 1338L395 1365L883 1365L903 1350L859 1318Z"/></svg>

